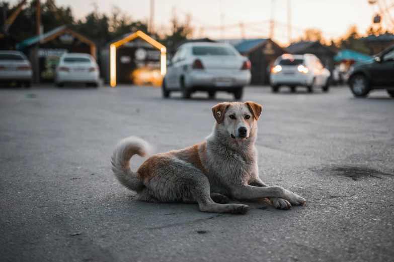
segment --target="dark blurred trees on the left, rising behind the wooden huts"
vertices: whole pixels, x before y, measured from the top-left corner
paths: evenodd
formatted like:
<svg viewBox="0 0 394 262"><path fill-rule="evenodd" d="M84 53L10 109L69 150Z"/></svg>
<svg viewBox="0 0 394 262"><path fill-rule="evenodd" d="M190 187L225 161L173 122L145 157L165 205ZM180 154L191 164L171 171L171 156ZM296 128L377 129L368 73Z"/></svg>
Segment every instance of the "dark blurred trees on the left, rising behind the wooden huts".
<svg viewBox="0 0 394 262"><path fill-rule="evenodd" d="M9 34L19 42L37 35L36 3L36 0L33 0L26 4L9 28ZM3 2L0 6L0 24L4 24L16 8L17 5ZM42 3L41 25L44 27L44 33L67 25L76 32L93 39L99 46L138 30L146 34L149 33L147 21L133 20L116 6L113 7L109 15L101 13L97 4L94 4L94 10L87 14L85 18L76 19L69 6L55 7L54 10L51 10L48 2ZM190 26L189 18L181 21L174 16L171 19L170 32L164 34L150 33L149 35L165 46L172 46L174 43L187 39L192 33L193 28Z"/></svg>

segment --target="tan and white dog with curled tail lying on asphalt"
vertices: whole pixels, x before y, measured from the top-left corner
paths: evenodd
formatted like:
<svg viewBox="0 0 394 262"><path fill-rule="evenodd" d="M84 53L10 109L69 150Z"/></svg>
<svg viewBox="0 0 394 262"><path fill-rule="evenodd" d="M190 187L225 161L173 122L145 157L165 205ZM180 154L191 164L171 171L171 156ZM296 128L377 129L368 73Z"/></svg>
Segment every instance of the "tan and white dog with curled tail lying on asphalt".
<svg viewBox="0 0 394 262"><path fill-rule="evenodd" d="M255 102L222 102L212 108L216 120L206 141L178 151L150 156L134 172L133 155L145 157L149 144L137 137L118 143L112 171L140 201L198 203L200 211L245 214L249 206L226 204L229 198L256 201L268 198L278 209L304 205L306 200L259 178L257 120L263 107Z"/></svg>

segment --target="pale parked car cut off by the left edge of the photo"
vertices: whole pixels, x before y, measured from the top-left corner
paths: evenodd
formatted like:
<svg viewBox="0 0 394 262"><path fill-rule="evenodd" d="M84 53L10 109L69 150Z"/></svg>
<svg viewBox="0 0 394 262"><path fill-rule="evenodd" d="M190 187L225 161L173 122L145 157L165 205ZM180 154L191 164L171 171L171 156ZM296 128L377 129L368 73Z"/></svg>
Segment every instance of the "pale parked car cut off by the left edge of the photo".
<svg viewBox="0 0 394 262"><path fill-rule="evenodd" d="M31 86L32 68L27 57L19 51L0 51L0 82Z"/></svg>

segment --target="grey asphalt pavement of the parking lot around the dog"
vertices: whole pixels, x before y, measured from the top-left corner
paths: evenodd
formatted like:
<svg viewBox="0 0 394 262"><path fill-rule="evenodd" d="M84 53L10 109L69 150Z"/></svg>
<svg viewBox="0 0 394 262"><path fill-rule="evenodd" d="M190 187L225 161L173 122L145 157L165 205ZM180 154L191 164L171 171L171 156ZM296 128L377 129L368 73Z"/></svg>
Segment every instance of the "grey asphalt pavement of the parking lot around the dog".
<svg viewBox="0 0 394 262"><path fill-rule="evenodd" d="M0 261L394 261L394 99L248 87L263 105L261 179L303 196L277 210L203 213L195 204L135 200L110 169L135 135L154 153L202 142L201 93L152 87L0 89ZM144 159L135 156L136 170Z"/></svg>

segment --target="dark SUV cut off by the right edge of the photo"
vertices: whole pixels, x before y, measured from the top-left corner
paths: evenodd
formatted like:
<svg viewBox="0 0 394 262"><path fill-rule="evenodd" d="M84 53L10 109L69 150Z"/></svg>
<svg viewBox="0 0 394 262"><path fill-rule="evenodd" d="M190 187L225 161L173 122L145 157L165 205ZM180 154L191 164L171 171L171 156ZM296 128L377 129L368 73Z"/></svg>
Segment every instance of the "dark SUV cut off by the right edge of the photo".
<svg viewBox="0 0 394 262"><path fill-rule="evenodd" d="M350 72L349 85L356 97L366 97L374 89L386 89L394 98L394 45L373 59L355 65Z"/></svg>

